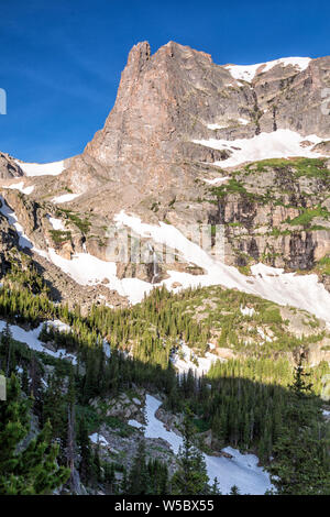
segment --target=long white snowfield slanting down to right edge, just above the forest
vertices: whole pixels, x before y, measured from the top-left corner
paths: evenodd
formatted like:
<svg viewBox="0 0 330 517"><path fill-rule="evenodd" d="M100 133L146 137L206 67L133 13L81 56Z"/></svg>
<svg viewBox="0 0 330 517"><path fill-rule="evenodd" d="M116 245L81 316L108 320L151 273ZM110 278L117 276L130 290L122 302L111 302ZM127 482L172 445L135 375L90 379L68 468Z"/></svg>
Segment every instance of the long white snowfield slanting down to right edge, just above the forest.
<svg viewBox="0 0 330 517"><path fill-rule="evenodd" d="M146 224L136 217L128 216L124 211L117 215L114 219L118 223L130 227L139 235L150 237L155 242L178 250L187 263L196 264L207 271L205 275L169 271L170 277L163 280L168 289L222 285L261 296L276 304L292 305L308 310L330 322L330 293L318 282L317 275L296 275L284 273L280 268L256 264L251 267L253 276L248 277L233 266L216 262L205 250L189 241L172 224L164 222L157 227ZM180 287L173 288L173 283L179 283Z"/></svg>

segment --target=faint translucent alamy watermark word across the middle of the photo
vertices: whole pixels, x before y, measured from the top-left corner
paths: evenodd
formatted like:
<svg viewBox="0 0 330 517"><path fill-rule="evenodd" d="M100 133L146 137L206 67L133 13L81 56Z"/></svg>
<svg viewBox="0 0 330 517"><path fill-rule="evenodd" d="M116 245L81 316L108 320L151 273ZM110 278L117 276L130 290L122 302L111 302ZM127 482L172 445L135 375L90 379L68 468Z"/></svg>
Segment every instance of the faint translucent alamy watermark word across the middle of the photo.
<svg viewBox="0 0 330 517"><path fill-rule="evenodd" d="M127 227L110 226L106 239L106 256L109 262L187 263L197 258L197 254L204 255L204 258L208 254L216 261L224 262L223 224L189 224L179 231L174 229L168 233L160 232L158 239L147 234L141 237Z"/></svg>

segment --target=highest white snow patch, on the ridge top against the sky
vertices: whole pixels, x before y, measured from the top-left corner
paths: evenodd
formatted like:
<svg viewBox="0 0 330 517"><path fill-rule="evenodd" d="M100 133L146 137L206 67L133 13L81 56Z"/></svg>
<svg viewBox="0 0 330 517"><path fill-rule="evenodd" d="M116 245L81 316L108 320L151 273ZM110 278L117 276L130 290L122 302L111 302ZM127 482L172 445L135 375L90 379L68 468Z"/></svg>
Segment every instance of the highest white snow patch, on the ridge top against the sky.
<svg viewBox="0 0 330 517"><path fill-rule="evenodd" d="M288 66L293 65L298 70L305 70L310 62L310 57L282 57L266 63L257 63L255 65L226 65L231 76L237 80L246 80L251 82L256 73L265 73L271 70L276 65Z"/></svg>

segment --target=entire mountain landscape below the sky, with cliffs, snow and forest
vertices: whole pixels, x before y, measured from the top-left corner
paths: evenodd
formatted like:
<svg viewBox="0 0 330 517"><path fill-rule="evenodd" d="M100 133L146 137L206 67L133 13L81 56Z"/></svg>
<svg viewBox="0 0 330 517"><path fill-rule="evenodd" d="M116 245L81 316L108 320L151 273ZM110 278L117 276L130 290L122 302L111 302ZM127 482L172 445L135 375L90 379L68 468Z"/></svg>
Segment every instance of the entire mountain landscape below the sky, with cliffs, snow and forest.
<svg viewBox="0 0 330 517"><path fill-rule="evenodd" d="M329 495L329 91L142 42L82 154L2 150L0 494Z"/></svg>

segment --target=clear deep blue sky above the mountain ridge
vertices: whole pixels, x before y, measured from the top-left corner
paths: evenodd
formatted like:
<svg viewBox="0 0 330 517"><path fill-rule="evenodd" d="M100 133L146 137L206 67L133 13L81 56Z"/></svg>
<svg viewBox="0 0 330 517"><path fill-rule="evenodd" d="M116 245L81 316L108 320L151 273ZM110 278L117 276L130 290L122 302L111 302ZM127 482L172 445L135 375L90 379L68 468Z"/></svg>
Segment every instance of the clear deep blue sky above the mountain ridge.
<svg viewBox="0 0 330 517"><path fill-rule="evenodd" d="M330 54L328 1L0 0L0 151L78 154L103 125L132 45L173 40L218 64Z"/></svg>

